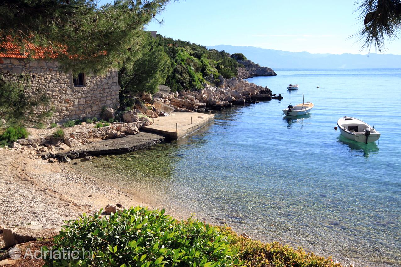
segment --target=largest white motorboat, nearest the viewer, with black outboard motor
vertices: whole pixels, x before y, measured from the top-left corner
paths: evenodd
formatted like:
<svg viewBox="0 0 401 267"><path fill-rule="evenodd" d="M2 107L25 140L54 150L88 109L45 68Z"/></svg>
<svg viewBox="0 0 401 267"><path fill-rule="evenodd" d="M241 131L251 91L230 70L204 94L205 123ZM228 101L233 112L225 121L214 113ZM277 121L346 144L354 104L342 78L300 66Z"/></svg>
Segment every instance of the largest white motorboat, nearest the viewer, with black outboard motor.
<svg viewBox="0 0 401 267"><path fill-rule="evenodd" d="M356 142L367 144L377 141L380 137L380 132L375 130L375 126L371 127L357 118L344 116L337 120L337 125L342 136Z"/></svg>

